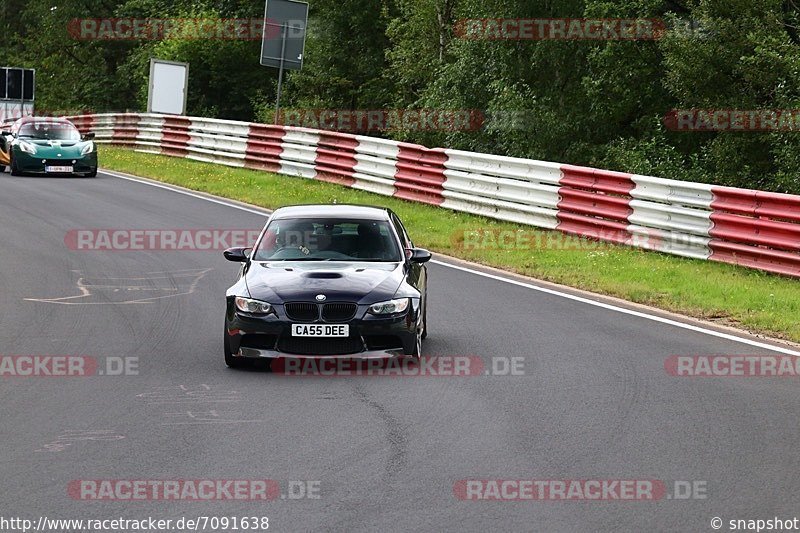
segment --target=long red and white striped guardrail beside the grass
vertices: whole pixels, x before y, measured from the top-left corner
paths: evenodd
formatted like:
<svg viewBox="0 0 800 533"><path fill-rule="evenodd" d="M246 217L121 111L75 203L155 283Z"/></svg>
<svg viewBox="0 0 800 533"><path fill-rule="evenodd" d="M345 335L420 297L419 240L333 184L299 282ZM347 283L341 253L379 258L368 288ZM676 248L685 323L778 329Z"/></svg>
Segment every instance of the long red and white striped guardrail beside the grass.
<svg viewBox="0 0 800 533"><path fill-rule="evenodd" d="M337 183L800 277L800 196L199 117L68 117L100 143Z"/></svg>

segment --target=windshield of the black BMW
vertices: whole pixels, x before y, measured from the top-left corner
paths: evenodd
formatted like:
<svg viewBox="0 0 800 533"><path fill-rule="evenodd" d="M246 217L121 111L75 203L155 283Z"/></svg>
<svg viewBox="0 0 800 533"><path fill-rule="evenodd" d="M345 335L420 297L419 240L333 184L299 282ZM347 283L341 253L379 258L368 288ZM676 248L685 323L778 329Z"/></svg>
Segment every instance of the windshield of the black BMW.
<svg viewBox="0 0 800 533"><path fill-rule="evenodd" d="M387 221L278 219L253 253L255 261L400 261Z"/></svg>

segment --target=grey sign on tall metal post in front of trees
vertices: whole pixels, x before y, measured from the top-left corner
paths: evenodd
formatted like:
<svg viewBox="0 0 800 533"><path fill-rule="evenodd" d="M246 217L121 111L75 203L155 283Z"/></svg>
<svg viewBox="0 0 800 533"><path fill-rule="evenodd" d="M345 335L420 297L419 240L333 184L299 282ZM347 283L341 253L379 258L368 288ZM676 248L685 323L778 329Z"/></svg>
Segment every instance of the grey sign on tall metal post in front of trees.
<svg viewBox="0 0 800 533"><path fill-rule="evenodd" d="M275 124L279 122L283 72L303 68L307 24L307 2L267 0L264 6L264 33L261 37L261 64L278 69Z"/></svg>

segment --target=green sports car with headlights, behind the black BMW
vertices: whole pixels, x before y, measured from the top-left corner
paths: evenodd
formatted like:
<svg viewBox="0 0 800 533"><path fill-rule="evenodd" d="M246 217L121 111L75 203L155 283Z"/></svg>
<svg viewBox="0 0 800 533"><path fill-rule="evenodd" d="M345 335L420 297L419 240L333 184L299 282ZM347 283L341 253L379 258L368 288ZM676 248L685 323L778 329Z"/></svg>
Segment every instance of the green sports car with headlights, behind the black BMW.
<svg viewBox="0 0 800 533"><path fill-rule="evenodd" d="M11 174L97 175L94 133L81 136L72 122L60 118L24 117L0 134L0 170Z"/></svg>

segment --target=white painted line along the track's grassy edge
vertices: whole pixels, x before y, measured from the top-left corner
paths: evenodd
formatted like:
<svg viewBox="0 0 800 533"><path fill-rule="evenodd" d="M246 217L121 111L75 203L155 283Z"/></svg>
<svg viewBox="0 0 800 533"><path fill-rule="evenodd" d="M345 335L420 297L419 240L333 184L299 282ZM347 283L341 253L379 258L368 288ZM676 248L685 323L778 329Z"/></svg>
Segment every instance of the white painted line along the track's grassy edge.
<svg viewBox="0 0 800 533"><path fill-rule="evenodd" d="M118 174L116 172L111 172L111 171L108 171L108 170L101 170L101 172L104 173L104 174L108 174L109 176L113 176L115 178L125 179L125 180L129 180L129 181L135 181L137 183L142 183L144 185L150 185L152 187L158 187L159 189L166 189L168 191L177 192L179 194L185 194L186 196L191 196L193 198L199 198L199 199L205 200L207 202L212 202L212 203L215 203L215 204L224 205L226 207L233 207L234 209L239 209L241 211L246 211L248 213L255 213L256 215L267 215L267 214L269 214L269 210L267 210L267 209L264 209L263 211L259 211L257 209L251 209L249 207L245 207L243 205L237 205L235 203L228 202L228 201L225 201L225 200L222 200L222 199L211 198L209 196L205 196L205 195L202 195L202 194L195 194L195 193L193 193L191 191L175 188L175 187L172 187L170 185L165 185L165 184L162 184L162 183L154 183L154 182L151 182L151 181L148 181L148 180L139 179L139 178L134 177L134 176ZM778 352L778 353L782 353L782 354L786 354L786 355L794 355L794 356L800 357L800 351L792 350L790 348L784 348L782 346L776 346L776 345L773 345L773 344L768 344L766 342L759 342L759 341L754 340L754 339L747 339L747 338L744 338L744 337L738 337L736 335L731 335L730 333L723 333L721 331L714 331L713 329L707 329L707 328L703 328L703 327L700 327L700 326L695 326L693 324L686 324L684 322L679 322L677 320L672 320L672 319L665 318L665 317L662 317L662 316L650 315L650 314L647 314L647 313L643 313L641 311L634 311L633 309L626 309L625 307L619 307L619 306L612 305L612 304L607 304L607 303L598 302L598 301L595 301L595 300L590 300L589 298L583 298L581 296L576 296L574 294L569 294L569 293L557 291L557 290L554 290L554 289L548 289L548 288L545 288L545 287L539 287L538 285L533 285L531 283L525 283L524 281L518 281L518 280L515 280L515 279L505 278L503 276L498 276L498 275L495 275L495 274L489 274L488 272L483 272L481 270L476 270L474 268L467 268L467 267L463 267L463 266L459 266L459 265L454 265L454 264L451 264L451 263L445 263L443 261L437 261L435 259L432 260L431 262L435 263L437 265L443 266L443 267L452 268L454 270L460 270L462 272L469 272L470 274L475 274L476 276L482 276L484 278L493 279L495 281L500 281L500 282L503 282L503 283L509 283L511 285L516 285L518 287L524 287L526 289L531 289L531 290L534 290L534 291L543 292L545 294L550 294L550 295L553 295L553 296L559 296L561 298L566 298L568 300L573 300L575 302L580 302L580 303L583 303L583 304L586 304L586 305L593 305L595 307L600 307L600 308L606 309L608 311L614 311L616 313L622 313L622 314L625 314L625 315L631 315L631 316L635 316L635 317L639 317L639 318L644 318L646 320L652 320L653 322L659 322L661 324L667 324L667 325L670 325L670 326L674 326L676 328L686 329L686 330L689 330L689 331L694 331L696 333L702 333L702 334L705 334L705 335L710 335L712 337L717 337L717 338L720 338L720 339L725 339L725 340L729 340L729 341L733 341L733 342L738 342L738 343L741 343L741 344L747 344L749 346L753 346L753 347L756 347L756 348L762 348L764 350L769 350L771 352Z"/></svg>

